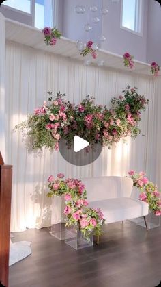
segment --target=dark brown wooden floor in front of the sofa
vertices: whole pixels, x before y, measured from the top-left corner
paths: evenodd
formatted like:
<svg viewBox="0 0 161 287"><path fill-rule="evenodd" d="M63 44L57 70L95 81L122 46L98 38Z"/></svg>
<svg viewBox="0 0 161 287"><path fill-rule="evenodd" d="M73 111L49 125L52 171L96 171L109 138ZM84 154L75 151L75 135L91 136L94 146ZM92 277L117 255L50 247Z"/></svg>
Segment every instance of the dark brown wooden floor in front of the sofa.
<svg viewBox="0 0 161 287"><path fill-rule="evenodd" d="M161 228L106 225L100 245L75 251L49 229L14 233L32 255L10 266L10 287L154 287L161 280Z"/></svg>

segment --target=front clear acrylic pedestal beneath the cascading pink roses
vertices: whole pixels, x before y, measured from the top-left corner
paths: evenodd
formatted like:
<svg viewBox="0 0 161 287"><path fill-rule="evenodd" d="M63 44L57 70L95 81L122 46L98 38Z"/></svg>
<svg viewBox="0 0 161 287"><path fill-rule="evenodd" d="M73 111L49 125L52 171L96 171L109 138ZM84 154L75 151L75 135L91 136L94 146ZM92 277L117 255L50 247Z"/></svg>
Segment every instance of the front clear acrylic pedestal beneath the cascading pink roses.
<svg viewBox="0 0 161 287"><path fill-rule="evenodd" d="M93 230L88 234L86 238L83 232L73 227L73 229L66 232L65 244L78 250L85 247L93 246Z"/></svg>

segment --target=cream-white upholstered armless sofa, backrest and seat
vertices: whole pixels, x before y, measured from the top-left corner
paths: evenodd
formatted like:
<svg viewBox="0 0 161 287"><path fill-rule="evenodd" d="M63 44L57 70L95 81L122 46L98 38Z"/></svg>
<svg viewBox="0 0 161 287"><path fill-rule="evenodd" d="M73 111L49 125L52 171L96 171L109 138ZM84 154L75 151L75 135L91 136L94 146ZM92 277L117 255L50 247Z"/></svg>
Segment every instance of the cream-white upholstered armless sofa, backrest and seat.
<svg viewBox="0 0 161 287"><path fill-rule="evenodd" d="M128 177L91 177L82 179L91 208L100 208L106 223L145 216L149 205L132 194L132 179ZM136 192L137 193L137 192Z"/></svg>

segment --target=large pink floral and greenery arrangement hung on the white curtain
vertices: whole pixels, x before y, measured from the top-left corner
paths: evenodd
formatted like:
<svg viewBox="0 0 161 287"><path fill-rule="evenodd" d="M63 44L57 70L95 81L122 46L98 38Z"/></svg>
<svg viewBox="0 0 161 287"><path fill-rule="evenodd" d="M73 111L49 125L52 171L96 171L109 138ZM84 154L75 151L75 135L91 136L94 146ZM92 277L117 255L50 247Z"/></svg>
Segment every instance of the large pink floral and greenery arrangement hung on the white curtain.
<svg viewBox="0 0 161 287"><path fill-rule="evenodd" d="M91 147L96 143L111 147L126 136L136 137L141 131L141 111L149 102L138 95L137 88L123 90L123 95L111 99L111 106L96 105L94 98L87 96L80 104L65 101L65 94L57 93L55 98L49 92L48 103L36 108L27 121L20 123L20 129L27 136L29 150L42 147L59 149L63 138L71 147L74 136L87 140Z"/></svg>

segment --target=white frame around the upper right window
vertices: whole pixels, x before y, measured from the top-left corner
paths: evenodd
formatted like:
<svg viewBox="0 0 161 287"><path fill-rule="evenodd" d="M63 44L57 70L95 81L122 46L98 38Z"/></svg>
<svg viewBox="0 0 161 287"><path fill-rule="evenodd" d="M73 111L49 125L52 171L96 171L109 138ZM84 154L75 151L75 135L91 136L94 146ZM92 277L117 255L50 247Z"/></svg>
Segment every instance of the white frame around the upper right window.
<svg viewBox="0 0 161 287"><path fill-rule="evenodd" d="M144 0L136 0L136 7L135 7L135 30L129 29L123 26L123 0L121 0L121 14L120 14L120 28L130 32L132 34L136 34L137 36L143 36L143 11L144 11ZM136 31L136 27L138 26L138 31Z"/></svg>

